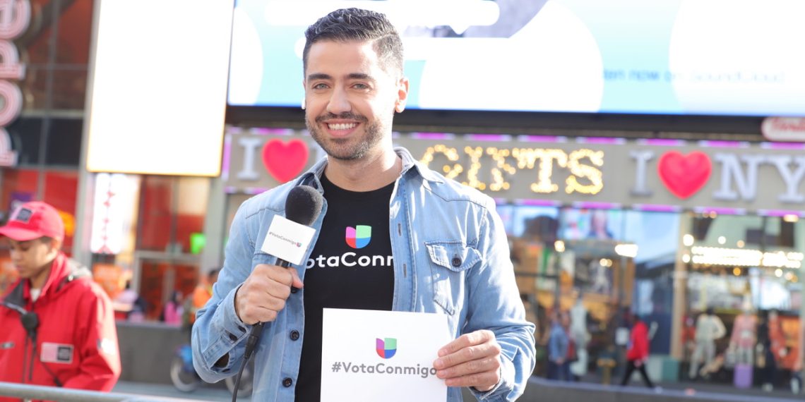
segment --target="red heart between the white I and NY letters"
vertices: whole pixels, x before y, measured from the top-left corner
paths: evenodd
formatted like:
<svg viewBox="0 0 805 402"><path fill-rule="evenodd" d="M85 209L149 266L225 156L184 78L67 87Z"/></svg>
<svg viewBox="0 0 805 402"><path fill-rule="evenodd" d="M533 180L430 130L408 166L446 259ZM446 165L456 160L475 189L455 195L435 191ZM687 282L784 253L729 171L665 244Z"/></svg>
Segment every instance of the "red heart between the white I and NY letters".
<svg viewBox="0 0 805 402"><path fill-rule="evenodd" d="M694 151L683 155L671 151L659 158L657 170L668 191L680 199L687 199L707 183L712 164L704 152Z"/></svg>

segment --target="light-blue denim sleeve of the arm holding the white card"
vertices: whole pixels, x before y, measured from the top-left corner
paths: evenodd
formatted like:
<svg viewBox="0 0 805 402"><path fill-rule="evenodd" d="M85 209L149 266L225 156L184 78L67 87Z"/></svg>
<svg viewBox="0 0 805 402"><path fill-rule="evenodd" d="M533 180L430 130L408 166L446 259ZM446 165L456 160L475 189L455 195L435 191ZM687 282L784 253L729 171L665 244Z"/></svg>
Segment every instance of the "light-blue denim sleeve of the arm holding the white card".
<svg viewBox="0 0 805 402"><path fill-rule="evenodd" d="M470 390L478 400L516 400L525 391L535 366L535 326L526 321L520 291L514 281L509 242L500 216L489 199L481 209L483 222L477 240L481 263L468 273L468 322L462 332L492 330L501 346L501 380L488 392ZM474 306L484 306L474 309Z"/></svg>

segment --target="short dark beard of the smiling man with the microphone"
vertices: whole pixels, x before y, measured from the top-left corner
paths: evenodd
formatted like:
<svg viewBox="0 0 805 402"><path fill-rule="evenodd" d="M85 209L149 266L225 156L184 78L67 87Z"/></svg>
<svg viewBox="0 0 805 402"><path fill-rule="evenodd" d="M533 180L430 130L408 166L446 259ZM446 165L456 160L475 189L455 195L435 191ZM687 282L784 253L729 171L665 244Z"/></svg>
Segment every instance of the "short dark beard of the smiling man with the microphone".
<svg viewBox="0 0 805 402"><path fill-rule="evenodd" d="M318 127L324 124L324 120L334 118L360 121L364 126L362 137L328 138L326 134L320 132ZM323 149L330 158L336 158L342 161L355 161L365 158L365 156L369 154L369 151L377 146L383 138L383 125L380 121L369 123L369 119L366 117L353 113L341 113L341 115L337 116L328 113L324 116L316 117L315 123L312 123L308 117L305 117L304 122L308 127L310 135L316 140L316 143L319 144L321 149Z"/></svg>

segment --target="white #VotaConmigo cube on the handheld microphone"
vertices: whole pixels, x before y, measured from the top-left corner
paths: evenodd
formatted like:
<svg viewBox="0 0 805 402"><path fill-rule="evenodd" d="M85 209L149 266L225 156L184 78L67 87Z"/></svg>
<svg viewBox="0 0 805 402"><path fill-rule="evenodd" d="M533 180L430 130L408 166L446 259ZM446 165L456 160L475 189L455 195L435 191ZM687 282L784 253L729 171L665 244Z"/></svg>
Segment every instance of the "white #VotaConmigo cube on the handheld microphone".
<svg viewBox="0 0 805 402"><path fill-rule="evenodd" d="M302 264L304 254L315 234L314 228L275 215L260 249L291 264L299 265Z"/></svg>

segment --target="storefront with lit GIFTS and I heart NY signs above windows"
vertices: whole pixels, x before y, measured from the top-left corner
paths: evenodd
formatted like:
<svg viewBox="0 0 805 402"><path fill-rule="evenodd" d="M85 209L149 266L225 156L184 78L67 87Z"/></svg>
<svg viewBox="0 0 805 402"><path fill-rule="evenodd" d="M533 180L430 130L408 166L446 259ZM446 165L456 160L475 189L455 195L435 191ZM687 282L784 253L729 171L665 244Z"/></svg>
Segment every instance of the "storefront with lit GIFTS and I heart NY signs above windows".
<svg viewBox="0 0 805 402"><path fill-rule="evenodd" d="M656 322L654 355L679 362L684 318L716 310L728 330L724 354L745 306L774 309L792 352L782 367L793 367L805 146L448 133L397 133L394 142L497 200L538 334L556 300L562 310L580 300L592 357L613 343L618 306L630 307ZM303 131L230 127L227 227L244 199L322 155Z"/></svg>

